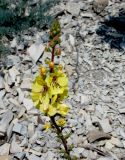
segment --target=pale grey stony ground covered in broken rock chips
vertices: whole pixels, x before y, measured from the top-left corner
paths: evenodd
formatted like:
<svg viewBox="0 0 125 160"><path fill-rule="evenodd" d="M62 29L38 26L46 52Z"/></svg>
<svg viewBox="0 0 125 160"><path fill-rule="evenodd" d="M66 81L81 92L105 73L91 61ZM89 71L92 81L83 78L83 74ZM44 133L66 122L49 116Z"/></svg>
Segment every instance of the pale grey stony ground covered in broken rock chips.
<svg viewBox="0 0 125 160"><path fill-rule="evenodd" d="M125 3L112 0L100 14L92 0L65 0L52 9L62 27L62 57L69 76L70 113L65 132L79 160L125 159L125 54L111 48L96 30L109 16L118 15ZM32 80L43 54L48 30L34 29L23 41L11 42L12 54L4 59L0 77L0 160L62 160L55 134L45 132L48 118L30 99ZM28 48L25 49L25 43Z"/></svg>

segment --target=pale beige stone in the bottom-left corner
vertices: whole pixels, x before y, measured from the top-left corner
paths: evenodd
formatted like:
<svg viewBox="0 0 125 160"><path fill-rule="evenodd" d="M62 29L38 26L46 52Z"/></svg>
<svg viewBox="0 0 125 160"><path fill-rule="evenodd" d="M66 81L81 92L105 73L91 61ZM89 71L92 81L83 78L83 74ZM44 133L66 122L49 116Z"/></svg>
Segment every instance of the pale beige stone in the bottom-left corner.
<svg viewBox="0 0 125 160"><path fill-rule="evenodd" d="M0 146L0 155L9 155L9 150L10 150L10 144L5 143L2 146Z"/></svg>

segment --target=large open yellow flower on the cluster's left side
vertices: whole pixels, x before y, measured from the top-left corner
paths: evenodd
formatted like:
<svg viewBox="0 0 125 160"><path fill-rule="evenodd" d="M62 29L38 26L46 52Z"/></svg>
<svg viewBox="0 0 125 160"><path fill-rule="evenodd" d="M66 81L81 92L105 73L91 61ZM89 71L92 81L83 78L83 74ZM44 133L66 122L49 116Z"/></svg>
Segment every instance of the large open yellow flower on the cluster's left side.
<svg viewBox="0 0 125 160"><path fill-rule="evenodd" d="M49 104L49 88L45 80L41 76L37 76L33 85L31 97L34 102L34 105L39 108L40 104Z"/></svg>

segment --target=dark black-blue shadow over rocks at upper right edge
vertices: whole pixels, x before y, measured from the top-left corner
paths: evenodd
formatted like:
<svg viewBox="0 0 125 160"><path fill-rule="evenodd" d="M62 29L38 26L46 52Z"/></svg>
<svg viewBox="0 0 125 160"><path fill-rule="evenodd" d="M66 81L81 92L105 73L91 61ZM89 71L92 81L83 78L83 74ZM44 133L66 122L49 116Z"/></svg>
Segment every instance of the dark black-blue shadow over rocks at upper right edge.
<svg viewBox="0 0 125 160"><path fill-rule="evenodd" d="M96 33L102 37L102 41L109 43L111 48L125 51L125 12L119 12L117 17L101 22Z"/></svg>

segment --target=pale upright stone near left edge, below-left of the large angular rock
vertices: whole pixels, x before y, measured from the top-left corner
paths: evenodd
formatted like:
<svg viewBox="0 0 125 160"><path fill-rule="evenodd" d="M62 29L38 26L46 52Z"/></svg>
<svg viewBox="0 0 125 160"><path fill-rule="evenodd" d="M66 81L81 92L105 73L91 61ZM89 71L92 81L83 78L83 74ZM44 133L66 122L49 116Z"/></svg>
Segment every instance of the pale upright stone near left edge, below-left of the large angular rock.
<svg viewBox="0 0 125 160"><path fill-rule="evenodd" d="M15 66L13 66L11 69L9 69L9 75L11 77L12 82L16 81L17 75L20 75L20 72L16 69Z"/></svg>

